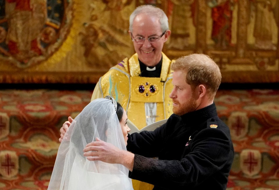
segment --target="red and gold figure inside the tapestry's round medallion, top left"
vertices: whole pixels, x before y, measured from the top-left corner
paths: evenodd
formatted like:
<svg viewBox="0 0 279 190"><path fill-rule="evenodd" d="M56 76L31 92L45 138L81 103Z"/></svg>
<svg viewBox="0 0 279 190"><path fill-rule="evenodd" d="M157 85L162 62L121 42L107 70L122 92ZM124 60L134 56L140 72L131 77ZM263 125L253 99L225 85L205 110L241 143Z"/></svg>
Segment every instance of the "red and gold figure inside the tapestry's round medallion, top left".
<svg viewBox="0 0 279 190"><path fill-rule="evenodd" d="M9 53L24 61L42 55L37 38L47 18L45 0L7 0L15 3L14 10L8 14L8 35L6 43Z"/></svg>

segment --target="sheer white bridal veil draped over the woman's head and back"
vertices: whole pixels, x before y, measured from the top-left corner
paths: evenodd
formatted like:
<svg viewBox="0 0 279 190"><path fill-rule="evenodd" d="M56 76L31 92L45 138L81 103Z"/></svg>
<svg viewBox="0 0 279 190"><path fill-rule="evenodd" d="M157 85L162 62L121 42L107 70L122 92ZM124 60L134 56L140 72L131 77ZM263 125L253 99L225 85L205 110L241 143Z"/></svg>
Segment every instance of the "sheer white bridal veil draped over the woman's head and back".
<svg viewBox="0 0 279 190"><path fill-rule="evenodd" d="M123 165L89 161L83 156L86 144L96 137L126 150L111 99L92 101L71 123L59 146L48 189L133 189L129 171Z"/></svg>

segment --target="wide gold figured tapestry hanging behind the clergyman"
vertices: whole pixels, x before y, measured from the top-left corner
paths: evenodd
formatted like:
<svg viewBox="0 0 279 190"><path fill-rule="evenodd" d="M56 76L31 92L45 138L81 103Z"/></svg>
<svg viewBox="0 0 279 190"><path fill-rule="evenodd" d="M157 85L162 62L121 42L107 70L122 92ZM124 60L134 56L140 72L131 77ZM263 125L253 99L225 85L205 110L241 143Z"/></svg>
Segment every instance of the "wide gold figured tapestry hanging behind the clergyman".
<svg viewBox="0 0 279 190"><path fill-rule="evenodd" d="M96 83L134 53L135 7L169 18L164 53L210 55L223 82L279 82L277 0L1 0L0 82Z"/></svg>

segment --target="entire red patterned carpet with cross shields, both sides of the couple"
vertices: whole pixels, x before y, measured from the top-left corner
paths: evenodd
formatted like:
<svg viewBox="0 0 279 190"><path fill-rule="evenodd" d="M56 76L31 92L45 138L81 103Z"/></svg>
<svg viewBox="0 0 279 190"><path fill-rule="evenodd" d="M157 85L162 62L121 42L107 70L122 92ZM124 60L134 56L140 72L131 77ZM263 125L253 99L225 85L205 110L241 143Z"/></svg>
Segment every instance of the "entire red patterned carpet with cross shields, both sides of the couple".
<svg viewBox="0 0 279 190"><path fill-rule="evenodd" d="M59 129L91 95L92 91L0 91L0 189L47 189ZM235 148L227 189L278 190L279 90L219 90L215 103Z"/></svg>

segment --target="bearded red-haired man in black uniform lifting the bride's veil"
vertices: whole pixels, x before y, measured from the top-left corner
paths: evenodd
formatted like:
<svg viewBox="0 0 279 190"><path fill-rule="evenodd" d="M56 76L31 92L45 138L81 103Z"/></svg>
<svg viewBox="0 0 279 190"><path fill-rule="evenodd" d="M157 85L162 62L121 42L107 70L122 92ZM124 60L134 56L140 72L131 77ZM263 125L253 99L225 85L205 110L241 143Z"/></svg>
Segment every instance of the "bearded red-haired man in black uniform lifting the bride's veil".
<svg viewBox="0 0 279 190"><path fill-rule="evenodd" d="M208 189L209 184L210 189L226 190L234 149L213 102L220 69L203 54L181 57L171 69L174 114L167 123L128 135L128 151L97 140L87 144L84 156L122 164L130 178L153 184L153 190Z"/></svg>

